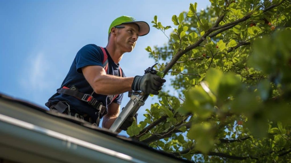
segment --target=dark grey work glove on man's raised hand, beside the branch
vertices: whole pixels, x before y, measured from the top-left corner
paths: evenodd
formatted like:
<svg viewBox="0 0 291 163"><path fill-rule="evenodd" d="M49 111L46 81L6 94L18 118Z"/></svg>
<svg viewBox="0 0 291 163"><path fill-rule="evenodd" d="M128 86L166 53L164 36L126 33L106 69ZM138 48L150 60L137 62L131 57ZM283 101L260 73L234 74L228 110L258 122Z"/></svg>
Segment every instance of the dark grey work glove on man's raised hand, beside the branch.
<svg viewBox="0 0 291 163"><path fill-rule="evenodd" d="M131 88L134 91L142 91L146 94L159 94L159 90L166 82L165 79L154 75L154 74L144 74L143 76L135 76L132 82Z"/></svg>

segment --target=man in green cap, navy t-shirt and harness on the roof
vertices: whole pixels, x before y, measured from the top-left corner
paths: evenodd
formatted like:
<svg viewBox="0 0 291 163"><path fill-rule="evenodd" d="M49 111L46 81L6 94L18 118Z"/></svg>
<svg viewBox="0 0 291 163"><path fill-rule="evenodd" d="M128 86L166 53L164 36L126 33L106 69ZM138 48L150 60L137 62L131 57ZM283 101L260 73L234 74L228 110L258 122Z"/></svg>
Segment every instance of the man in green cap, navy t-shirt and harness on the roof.
<svg viewBox="0 0 291 163"><path fill-rule="evenodd" d="M88 44L82 47L65 77L61 88L45 104L50 110L84 119L110 128L120 112L123 93L131 90L159 94L166 80L157 75L125 77L119 62L131 52L139 36L147 35L150 27L133 17L116 18L109 27L106 48ZM128 118L121 129L131 125Z"/></svg>

